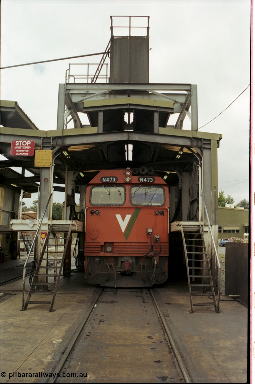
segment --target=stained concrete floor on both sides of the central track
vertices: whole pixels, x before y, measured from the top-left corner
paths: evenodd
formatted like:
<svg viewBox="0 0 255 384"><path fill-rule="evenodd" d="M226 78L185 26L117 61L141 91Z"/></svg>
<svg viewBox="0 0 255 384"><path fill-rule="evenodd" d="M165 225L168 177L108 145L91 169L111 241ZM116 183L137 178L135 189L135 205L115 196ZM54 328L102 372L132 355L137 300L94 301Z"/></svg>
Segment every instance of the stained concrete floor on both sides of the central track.
<svg viewBox="0 0 255 384"><path fill-rule="evenodd" d="M0 302L1 372L6 373L6 376L0 375L0 382L46 382L41 372L53 372L82 321L95 286L85 282L83 273L61 277L54 312L49 312L49 305L29 305L26 311L21 311L21 288L22 280L0 288L0 292L12 293ZM222 296L221 313L217 314L212 306L195 307L195 313L190 314L187 286L168 284L153 291L194 382L247 381L249 327L245 306ZM89 351L84 351L84 358L86 353ZM139 356L134 356L134 364L137 361ZM34 373L37 377L18 377L17 372ZM95 372L88 371L83 382L93 382L93 377ZM137 378L137 382L143 382L142 377Z"/></svg>

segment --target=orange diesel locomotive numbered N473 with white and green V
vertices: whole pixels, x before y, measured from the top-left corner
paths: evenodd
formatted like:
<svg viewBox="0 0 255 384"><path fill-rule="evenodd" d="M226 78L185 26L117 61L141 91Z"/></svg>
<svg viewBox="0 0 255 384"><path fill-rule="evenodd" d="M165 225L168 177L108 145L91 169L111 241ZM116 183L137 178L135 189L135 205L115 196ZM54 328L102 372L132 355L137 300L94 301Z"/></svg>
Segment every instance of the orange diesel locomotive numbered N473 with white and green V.
<svg viewBox="0 0 255 384"><path fill-rule="evenodd" d="M101 170L87 184L85 279L141 287L167 280L169 192L147 169Z"/></svg>

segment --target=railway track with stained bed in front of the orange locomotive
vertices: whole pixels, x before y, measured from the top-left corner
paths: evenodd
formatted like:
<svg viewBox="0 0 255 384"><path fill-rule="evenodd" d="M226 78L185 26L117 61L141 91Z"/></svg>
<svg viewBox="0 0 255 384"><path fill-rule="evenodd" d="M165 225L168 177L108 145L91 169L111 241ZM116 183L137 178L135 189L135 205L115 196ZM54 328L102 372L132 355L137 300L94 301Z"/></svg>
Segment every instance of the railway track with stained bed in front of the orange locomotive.
<svg viewBox="0 0 255 384"><path fill-rule="evenodd" d="M52 376L47 382L192 382L147 288L96 288Z"/></svg>

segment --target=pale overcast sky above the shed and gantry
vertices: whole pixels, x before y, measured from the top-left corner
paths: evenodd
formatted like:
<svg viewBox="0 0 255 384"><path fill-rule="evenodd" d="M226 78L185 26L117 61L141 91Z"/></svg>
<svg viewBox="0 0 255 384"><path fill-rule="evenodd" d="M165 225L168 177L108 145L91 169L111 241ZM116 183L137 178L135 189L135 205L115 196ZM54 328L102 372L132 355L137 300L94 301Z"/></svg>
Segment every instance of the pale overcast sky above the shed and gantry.
<svg viewBox="0 0 255 384"><path fill-rule="evenodd" d="M1 0L1 67L103 52L114 15L150 16L149 81L198 84L199 127L250 84L250 0ZM39 129L56 129L69 63L100 59L2 70L1 99L17 101ZM250 87L200 129L223 136L219 190L235 204L249 197L249 102Z"/></svg>

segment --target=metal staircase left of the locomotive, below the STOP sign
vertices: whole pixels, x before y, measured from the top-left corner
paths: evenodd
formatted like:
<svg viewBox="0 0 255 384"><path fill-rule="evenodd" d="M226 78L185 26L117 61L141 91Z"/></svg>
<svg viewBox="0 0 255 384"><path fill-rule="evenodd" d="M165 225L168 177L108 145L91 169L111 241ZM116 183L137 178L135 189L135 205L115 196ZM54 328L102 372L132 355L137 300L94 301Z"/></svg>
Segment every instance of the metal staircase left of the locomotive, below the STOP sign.
<svg viewBox="0 0 255 384"><path fill-rule="evenodd" d="M49 227L47 236L44 240L41 256L39 258L36 270L34 273L33 281L31 283L28 297L23 305L22 310L25 311L28 304L50 304L49 311L54 311L53 305L57 293L57 287L60 280L60 275L67 252L69 239L71 236L72 225L69 227L65 244L49 244L49 237L52 231L52 227ZM62 239L64 240L64 239ZM64 247L59 250L59 247ZM39 278L44 277L45 282L39 282ZM47 288L47 290L36 290L36 288ZM50 288L50 289L49 289ZM31 295L51 295L51 301L30 300Z"/></svg>

